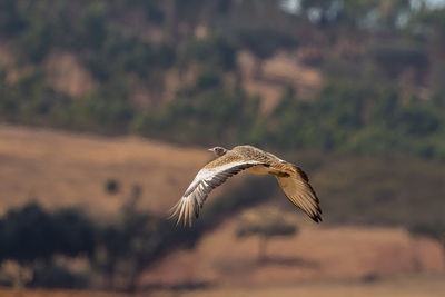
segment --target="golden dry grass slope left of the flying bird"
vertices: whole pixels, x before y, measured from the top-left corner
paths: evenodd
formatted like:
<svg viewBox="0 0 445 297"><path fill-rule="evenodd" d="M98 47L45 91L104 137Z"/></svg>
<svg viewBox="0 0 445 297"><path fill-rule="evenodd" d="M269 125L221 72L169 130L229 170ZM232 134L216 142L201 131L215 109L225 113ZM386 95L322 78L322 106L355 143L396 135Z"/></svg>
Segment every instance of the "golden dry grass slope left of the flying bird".
<svg viewBox="0 0 445 297"><path fill-rule="evenodd" d="M135 137L106 138L44 129L0 126L0 214L38 199L43 206L80 206L113 214L142 186L141 206L166 211L211 156ZM108 178L121 191L108 195Z"/></svg>

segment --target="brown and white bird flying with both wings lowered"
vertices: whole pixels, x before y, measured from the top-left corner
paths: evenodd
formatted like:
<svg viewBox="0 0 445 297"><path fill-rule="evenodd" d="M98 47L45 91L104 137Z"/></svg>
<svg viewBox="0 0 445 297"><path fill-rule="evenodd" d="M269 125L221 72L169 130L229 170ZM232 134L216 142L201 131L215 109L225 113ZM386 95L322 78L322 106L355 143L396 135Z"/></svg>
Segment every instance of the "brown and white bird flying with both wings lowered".
<svg viewBox="0 0 445 297"><path fill-rule="evenodd" d="M170 219L176 225L191 227L194 217L199 217L207 196L229 177L246 170L256 175L273 175L277 178L286 197L305 211L315 222L322 221L319 199L309 184L305 171L296 165L254 146L236 146L228 150L224 147L208 149L216 159L204 166L179 201L170 209Z"/></svg>

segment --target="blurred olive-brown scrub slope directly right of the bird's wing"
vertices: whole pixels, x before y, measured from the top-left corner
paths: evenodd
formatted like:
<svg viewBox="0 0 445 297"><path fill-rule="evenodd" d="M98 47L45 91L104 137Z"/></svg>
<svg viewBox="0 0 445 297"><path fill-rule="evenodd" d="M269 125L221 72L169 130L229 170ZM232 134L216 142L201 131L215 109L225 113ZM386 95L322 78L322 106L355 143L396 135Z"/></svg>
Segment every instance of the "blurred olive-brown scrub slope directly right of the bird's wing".
<svg viewBox="0 0 445 297"><path fill-rule="evenodd" d="M320 198L328 225L404 226L436 225L445 217L443 164L411 157L352 157L307 150L285 156L305 168ZM288 211L295 207L278 192ZM299 212L299 211L298 211ZM301 214L303 216L303 214Z"/></svg>

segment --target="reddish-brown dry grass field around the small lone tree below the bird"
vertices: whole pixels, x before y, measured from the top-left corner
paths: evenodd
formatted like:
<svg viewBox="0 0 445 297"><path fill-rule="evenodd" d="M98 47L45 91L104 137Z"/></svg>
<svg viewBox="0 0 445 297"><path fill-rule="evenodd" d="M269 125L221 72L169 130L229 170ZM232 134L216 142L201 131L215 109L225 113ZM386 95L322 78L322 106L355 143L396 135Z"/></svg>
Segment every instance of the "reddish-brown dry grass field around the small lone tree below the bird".
<svg viewBox="0 0 445 297"><path fill-rule="evenodd" d="M238 240L237 220L233 218L206 236L194 250L164 259L147 271L146 281L288 285L444 270L439 242L414 238L402 228L328 228L306 219L298 224L299 235L270 240L271 260L259 265L258 238Z"/></svg>

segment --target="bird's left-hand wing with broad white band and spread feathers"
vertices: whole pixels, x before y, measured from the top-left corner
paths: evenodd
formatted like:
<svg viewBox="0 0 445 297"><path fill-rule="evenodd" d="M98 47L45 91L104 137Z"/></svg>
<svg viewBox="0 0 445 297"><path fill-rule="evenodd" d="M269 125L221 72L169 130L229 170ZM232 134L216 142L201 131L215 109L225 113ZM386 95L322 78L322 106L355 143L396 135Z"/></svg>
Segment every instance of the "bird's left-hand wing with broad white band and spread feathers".
<svg viewBox="0 0 445 297"><path fill-rule="evenodd" d="M188 222L191 226L192 217L199 216L199 209L212 189L239 171L260 164L263 162L243 160L239 156L230 152L207 164L196 175L179 201L170 209L170 218L177 218L176 225L182 220L184 225Z"/></svg>

